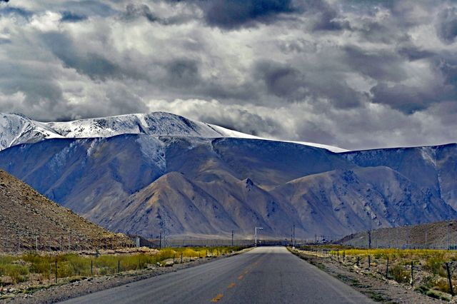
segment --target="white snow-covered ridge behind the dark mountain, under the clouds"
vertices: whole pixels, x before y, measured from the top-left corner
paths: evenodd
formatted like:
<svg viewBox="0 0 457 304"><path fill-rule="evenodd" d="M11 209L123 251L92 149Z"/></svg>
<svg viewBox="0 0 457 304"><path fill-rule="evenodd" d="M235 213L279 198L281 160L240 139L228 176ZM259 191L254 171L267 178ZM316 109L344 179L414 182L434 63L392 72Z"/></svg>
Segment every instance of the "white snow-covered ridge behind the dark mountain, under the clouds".
<svg viewBox="0 0 457 304"><path fill-rule="evenodd" d="M209 123L191 121L188 118L164 112L138 113L50 123L34 121L21 114L0 115L0 151L21 143L36 143L47 138L96 138L121 134L267 139ZM346 151L338 147L326 146L319 143L296 143L326 148L336 153Z"/></svg>

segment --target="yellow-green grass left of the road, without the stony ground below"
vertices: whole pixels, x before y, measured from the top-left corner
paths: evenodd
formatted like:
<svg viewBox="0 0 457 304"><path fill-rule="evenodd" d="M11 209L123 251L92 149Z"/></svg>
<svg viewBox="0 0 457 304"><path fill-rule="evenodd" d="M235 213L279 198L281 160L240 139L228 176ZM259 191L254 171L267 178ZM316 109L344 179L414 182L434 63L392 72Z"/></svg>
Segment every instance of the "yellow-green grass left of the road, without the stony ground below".
<svg viewBox="0 0 457 304"><path fill-rule="evenodd" d="M151 253L79 255L0 255L0 287L18 283L49 283L59 278L80 278L141 270L164 265L166 260L181 263L191 259L214 257L243 249L242 247L164 248ZM57 265L57 268L56 268Z"/></svg>

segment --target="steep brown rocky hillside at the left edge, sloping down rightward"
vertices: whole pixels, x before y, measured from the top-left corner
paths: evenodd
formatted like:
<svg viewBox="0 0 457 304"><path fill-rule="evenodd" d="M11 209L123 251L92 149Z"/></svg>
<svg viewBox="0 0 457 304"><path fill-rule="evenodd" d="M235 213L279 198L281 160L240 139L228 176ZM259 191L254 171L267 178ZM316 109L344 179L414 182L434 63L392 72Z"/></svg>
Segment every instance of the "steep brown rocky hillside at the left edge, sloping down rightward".
<svg viewBox="0 0 457 304"><path fill-rule="evenodd" d="M129 242L0 171L0 252L80 250Z"/></svg>

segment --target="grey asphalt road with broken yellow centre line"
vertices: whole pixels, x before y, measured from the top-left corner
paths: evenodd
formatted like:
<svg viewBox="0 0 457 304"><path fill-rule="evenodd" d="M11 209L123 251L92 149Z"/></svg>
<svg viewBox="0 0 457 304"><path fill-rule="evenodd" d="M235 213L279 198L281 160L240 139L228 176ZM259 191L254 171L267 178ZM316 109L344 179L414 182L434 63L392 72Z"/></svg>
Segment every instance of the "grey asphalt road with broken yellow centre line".
<svg viewBox="0 0 457 304"><path fill-rule="evenodd" d="M64 303L373 303L283 247L229 258Z"/></svg>

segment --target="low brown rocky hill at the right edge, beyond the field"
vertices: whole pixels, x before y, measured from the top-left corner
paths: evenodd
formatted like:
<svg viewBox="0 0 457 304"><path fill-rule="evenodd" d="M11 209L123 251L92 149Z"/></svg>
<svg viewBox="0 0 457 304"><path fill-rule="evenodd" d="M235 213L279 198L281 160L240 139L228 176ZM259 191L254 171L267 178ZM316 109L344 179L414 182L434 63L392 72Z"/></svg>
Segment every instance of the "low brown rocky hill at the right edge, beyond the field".
<svg viewBox="0 0 457 304"><path fill-rule="evenodd" d="M368 247L368 231L346 235L337 243ZM457 221L441 221L371 231L371 248L457 249Z"/></svg>

